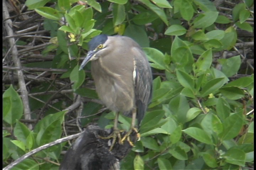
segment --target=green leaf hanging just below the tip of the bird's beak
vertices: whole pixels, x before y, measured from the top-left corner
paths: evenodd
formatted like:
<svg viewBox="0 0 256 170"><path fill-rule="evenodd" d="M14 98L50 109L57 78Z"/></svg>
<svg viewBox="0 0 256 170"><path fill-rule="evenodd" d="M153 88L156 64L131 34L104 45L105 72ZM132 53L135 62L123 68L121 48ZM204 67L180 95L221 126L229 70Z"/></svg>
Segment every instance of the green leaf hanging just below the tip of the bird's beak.
<svg viewBox="0 0 256 170"><path fill-rule="evenodd" d="M79 70L79 66L76 65L74 67L74 69L72 70L72 72L70 73L70 81L74 82L74 84L72 86L74 91L76 91L76 89L78 89L82 85L84 80L85 80L84 70Z"/></svg>

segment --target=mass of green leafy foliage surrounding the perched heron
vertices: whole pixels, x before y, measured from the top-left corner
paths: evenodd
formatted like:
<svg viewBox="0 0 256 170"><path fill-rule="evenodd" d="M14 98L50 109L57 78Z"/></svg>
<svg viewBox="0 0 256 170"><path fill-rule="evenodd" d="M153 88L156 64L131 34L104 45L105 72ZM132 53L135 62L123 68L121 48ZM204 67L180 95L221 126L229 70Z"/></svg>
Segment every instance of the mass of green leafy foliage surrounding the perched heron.
<svg viewBox="0 0 256 170"><path fill-rule="evenodd" d="M52 5L56 2L55 5ZM220 52L237 52L238 28L252 32L248 19L254 1L234 4L232 11L220 12L208 0L27 0L29 10L46 18L51 44L41 53L54 53L53 61L41 67L67 69L56 72L58 79L74 82L75 94L97 99L91 89L90 73L78 70L87 42L98 34L129 36L143 47L153 68L153 99L140 127L141 140L122 160L122 169L246 169L254 164L254 75L241 65L240 53L231 57ZM230 1L232 3L232 1ZM231 17L229 17L231 15ZM57 28L57 29L56 29ZM150 37L150 38L149 38ZM217 57L216 57L217 55ZM224 55L223 55L224 56ZM36 67L25 65L27 67ZM86 69L90 68L86 66ZM55 90L51 82L35 85L30 92ZM89 88L90 87L90 88ZM62 136L62 125L74 115L65 115L63 101L56 101L33 130L21 123L22 101L10 86L3 94L3 162L11 163L21 155ZM32 112L38 112L49 94L31 98ZM72 94L67 98L75 100ZM69 103L70 104L70 103ZM68 103L64 105L69 106ZM110 128L114 114L100 112L101 104L84 103L80 123L97 122ZM41 112L41 110L40 110ZM43 111L44 112L44 111ZM95 115L100 112L100 114ZM34 119L37 119L34 115ZM121 116L120 128L129 127ZM13 134L12 134L13 133ZM12 137L14 136L14 137ZM52 162L62 161L65 143L34 155ZM45 159L28 158L13 169L57 169Z"/></svg>

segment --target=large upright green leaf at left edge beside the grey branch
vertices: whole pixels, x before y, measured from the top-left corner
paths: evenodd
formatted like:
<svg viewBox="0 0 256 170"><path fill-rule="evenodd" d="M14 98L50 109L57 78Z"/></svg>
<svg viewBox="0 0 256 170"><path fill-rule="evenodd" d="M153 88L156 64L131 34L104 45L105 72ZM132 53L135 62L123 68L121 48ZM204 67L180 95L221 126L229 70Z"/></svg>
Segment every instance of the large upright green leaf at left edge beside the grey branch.
<svg viewBox="0 0 256 170"><path fill-rule="evenodd" d="M3 120L12 125L16 119L20 119L23 114L23 105L20 96L10 87L3 94Z"/></svg>

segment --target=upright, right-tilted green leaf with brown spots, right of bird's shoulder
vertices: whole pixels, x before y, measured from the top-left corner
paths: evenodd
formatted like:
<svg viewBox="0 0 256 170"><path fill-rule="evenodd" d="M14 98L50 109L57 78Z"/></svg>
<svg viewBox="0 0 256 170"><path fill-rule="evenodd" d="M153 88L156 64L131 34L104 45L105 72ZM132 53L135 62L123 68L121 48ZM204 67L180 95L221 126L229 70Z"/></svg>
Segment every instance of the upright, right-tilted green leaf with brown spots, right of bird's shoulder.
<svg viewBox="0 0 256 170"><path fill-rule="evenodd" d="M204 52L197 60L196 67L198 72L205 72L212 65L212 49Z"/></svg>

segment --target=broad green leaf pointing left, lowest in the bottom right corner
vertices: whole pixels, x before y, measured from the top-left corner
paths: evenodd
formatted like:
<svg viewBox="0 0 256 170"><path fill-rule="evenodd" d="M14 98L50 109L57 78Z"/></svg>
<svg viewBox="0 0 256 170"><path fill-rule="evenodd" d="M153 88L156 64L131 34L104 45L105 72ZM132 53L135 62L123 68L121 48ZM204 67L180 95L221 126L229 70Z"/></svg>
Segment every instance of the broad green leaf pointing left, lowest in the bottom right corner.
<svg viewBox="0 0 256 170"><path fill-rule="evenodd" d="M245 166L245 153L240 149L229 149L222 157L227 163Z"/></svg>

